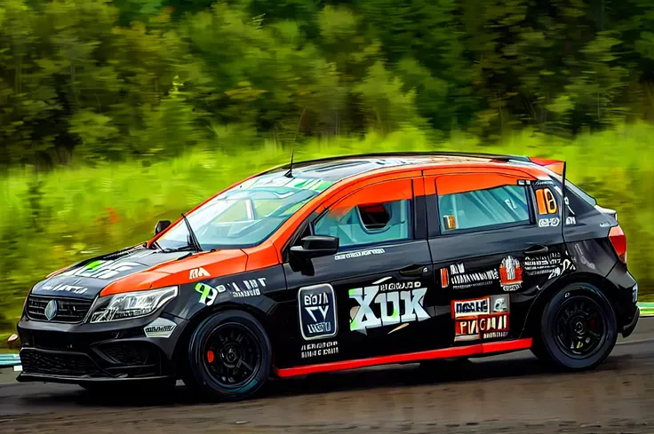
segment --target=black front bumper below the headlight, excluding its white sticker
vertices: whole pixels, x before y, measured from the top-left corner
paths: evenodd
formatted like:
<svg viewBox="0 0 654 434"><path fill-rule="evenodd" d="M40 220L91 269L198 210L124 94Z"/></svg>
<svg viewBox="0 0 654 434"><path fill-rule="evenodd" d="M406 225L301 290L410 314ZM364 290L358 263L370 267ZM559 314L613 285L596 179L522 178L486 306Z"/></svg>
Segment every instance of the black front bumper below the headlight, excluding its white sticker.
<svg viewBox="0 0 654 434"><path fill-rule="evenodd" d="M174 350L186 320L169 337L148 337L144 328L158 315L102 324L29 320L18 324L19 382L98 383L176 377Z"/></svg>

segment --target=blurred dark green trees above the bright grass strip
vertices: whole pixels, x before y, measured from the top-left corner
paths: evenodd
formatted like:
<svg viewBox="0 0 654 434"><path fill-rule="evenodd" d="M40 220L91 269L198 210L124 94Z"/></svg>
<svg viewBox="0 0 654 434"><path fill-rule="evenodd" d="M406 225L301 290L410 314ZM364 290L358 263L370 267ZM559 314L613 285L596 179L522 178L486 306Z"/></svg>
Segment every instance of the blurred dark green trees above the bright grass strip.
<svg viewBox="0 0 654 434"><path fill-rule="evenodd" d="M650 0L0 0L0 168L651 120L652 29Z"/></svg>

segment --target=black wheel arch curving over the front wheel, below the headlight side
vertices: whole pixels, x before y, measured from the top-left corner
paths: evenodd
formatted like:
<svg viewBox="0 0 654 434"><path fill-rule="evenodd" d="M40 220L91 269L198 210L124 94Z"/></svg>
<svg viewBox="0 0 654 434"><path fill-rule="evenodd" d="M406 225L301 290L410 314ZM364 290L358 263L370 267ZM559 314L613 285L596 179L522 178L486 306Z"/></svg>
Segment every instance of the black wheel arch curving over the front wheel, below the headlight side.
<svg viewBox="0 0 654 434"><path fill-rule="evenodd" d="M219 312L227 311L240 311L251 314L255 320L258 320L261 324L261 327L266 331L268 338L270 339L270 344L275 348L275 339L273 335L270 334L271 326L269 324L268 315L266 312L261 311L260 309L251 306L249 304L235 304L235 303L222 303L215 306L208 307L195 313L190 320L188 320L187 326L184 328L184 331L179 336L177 344L175 345L175 350L173 351L172 359L175 366L175 374L179 378L187 370L188 364L188 343L190 342L191 335L195 329L207 318L211 317ZM273 361L275 360L275 351L273 351Z"/></svg>

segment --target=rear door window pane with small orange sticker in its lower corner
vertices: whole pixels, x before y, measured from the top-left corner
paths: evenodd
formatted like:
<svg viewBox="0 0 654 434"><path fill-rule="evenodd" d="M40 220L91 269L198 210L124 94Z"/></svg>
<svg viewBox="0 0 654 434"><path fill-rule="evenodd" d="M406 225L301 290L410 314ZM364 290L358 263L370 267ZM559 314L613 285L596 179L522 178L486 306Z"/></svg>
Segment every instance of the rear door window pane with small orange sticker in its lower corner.
<svg viewBox="0 0 654 434"><path fill-rule="evenodd" d="M438 196L441 231L530 223L527 190L523 185L502 185L465 193Z"/></svg>

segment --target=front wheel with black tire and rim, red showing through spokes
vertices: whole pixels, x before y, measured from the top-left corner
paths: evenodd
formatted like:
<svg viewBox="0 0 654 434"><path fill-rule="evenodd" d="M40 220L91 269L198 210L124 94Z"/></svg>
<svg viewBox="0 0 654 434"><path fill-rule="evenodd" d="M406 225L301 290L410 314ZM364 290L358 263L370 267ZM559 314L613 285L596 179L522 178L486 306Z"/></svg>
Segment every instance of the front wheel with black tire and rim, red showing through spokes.
<svg viewBox="0 0 654 434"><path fill-rule="evenodd" d="M240 400L266 383L272 359L270 339L258 320L247 312L219 312L191 335L184 382L207 398Z"/></svg>

